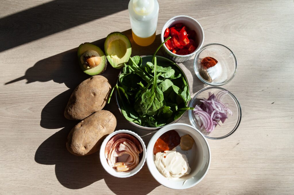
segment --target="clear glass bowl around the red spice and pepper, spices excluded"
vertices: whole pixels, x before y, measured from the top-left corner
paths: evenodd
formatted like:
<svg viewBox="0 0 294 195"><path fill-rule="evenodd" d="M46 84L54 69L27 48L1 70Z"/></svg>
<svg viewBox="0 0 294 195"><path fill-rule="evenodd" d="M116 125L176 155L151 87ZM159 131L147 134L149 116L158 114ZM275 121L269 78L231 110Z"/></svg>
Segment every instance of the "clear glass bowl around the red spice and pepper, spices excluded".
<svg viewBox="0 0 294 195"><path fill-rule="evenodd" d="M199 73L201 71L202 65L201 61L205 57L213 57L218 61L218 66L215 72L220 72L220 75L212 76L216 77L215 79L209 82L201 76ZM237 60L234 53L224 45L218 43L211 43L204 45L196 54L194 58L194 71L197 77L205 84L211 86L221 86L230 82L235 74L237 69ZM202 74L203 75L203 74Z"/></svg>

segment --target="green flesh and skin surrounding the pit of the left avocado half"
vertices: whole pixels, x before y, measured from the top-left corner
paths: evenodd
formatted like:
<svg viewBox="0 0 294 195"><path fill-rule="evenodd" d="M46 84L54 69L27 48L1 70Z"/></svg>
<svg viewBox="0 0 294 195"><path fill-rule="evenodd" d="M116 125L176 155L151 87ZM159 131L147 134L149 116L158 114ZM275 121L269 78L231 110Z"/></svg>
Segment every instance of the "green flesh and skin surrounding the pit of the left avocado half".
<svg viewBox="0 0 294 195"><path fill-rule="evenodd" d="M98 66L91 69L84 68L81 62L81 56L87 50L94 50L100 55L101 61ZM78 64L80 65L84 73L89 75L97 75L105 71L107 66L107 59L104 52L100 48L98 48L96 45L93 45L92 43L82 43L80 46L78 46Z"/></svg>

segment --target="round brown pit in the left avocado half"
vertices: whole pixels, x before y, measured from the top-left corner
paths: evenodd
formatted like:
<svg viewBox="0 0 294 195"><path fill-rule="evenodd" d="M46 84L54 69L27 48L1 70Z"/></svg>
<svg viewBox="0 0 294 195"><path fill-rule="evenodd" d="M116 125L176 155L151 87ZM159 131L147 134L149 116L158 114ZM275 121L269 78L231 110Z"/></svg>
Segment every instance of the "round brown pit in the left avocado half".
<svg viewBox="0 0 294 195"><path fill-rule="evenodd" d="M101 62L101 57L98 52L94 50L87 50L81 56L81 63L86 69L94 68Z"/></svg>

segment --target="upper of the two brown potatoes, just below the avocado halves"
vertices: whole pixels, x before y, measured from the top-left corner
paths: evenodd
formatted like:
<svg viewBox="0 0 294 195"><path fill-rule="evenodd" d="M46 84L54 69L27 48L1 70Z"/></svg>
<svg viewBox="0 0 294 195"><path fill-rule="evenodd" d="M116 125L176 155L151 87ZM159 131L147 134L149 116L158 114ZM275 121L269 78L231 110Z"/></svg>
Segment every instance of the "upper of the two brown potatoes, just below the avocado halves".
<svg viewBox="0 0 294 195"><path fill-rule="evenodd" d="M82 120L92 113L102 110L110 95L108 80L96 75L81 82L69 98L64 110L65 118Z"/></svg>

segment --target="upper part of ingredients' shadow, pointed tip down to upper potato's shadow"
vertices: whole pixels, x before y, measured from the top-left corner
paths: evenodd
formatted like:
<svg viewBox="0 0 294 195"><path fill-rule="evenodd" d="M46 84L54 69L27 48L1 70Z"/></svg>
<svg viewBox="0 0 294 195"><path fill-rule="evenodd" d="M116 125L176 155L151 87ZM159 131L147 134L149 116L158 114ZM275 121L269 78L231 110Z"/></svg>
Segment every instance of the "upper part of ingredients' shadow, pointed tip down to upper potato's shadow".
<svg viewBox="0 0 294 195"><path fill-rule="evenodd" d="M132 43L132 56L141 55L143 53L151 54L160 45L160 35L156 35L155 41L148 47L141 47L134 43L132 39L131 29L123 31L123 33L130 38ZM93 42L100 48L103 48L105 38ZM48 57L44 60L40 60L33 67L26 71L23 77L14 79L6 84L17 82L21 79L26 79L27 83L32 82L47 82L53 80L56 83L64 83L69 90L57 95L43 108L41 112L40 126L47 129L56 129L66 127L72 124L72 121L64 118L64 108L69 100L69 97L78 84L85 79L91 77L83 73L78 66L76 57L77 48L62 52L60 54ZM160 52L158 52L160 54ZM108 79L111 86L114 86L117 81L117 75L120 70L113 68L110 64L107 65L107 69L103 72L103 76ZM114 98L112 98L114 100ZM115 101L112 104L117 111ZM107 107L108 105L106 105ZM118 113L119 114L119 113ZM72 126L72 125L71 125Z"/></svg>

